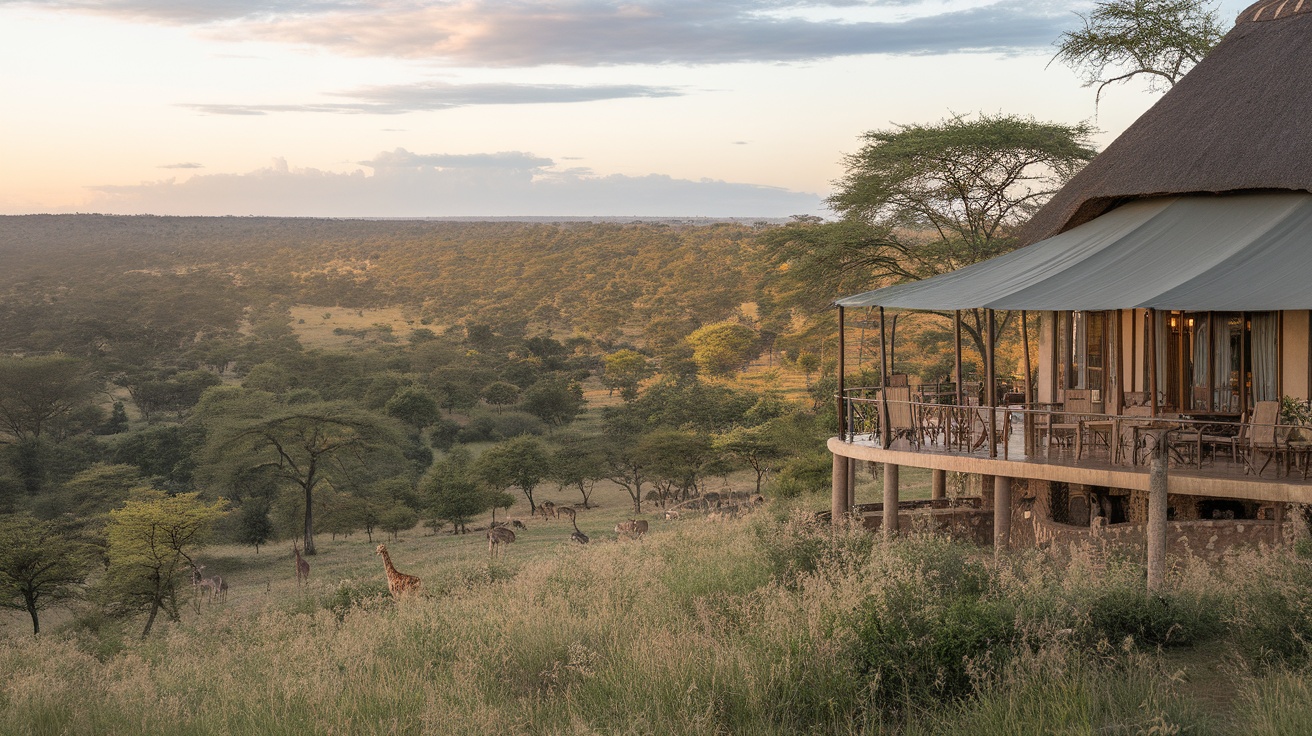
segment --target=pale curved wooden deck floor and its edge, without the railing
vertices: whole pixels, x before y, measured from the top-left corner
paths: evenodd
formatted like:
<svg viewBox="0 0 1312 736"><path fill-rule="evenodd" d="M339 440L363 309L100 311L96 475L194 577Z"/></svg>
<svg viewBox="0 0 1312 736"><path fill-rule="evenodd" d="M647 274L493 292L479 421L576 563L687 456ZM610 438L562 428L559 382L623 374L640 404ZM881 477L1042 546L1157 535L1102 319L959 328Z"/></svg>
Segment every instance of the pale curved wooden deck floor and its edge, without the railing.
<svg viewBox="0 0 1312 736"><path fill-rule="evenodd" d="M879 446L879 438L870 434L857 434L848 441L832 437L829 438L829 451L858 460L909 467L1107 488L1148 489L1148 467L1131 464L1128 459L1113 463L1106 447L1098 447L1093 451L1086 449L1085 455L1080 459L1076 459L1071 447L1040 446L1038 451L1027 454L1019 428L1000 437L997 457L989 457L987 445L967 451L945 447L942 443L922 443L913 447L907 440L896 440L890 443L888 449L883 449ZM1274 470L1267 467L1261 476L1245 475L1242 459L1235 463L1228 457L1208 455L1203 458L1202 467L1173 460L1169 466L1168 492L1309 504L1312 502L1312 478L1303 480L1302 472L1296 468L1290 475L1284 475L1283 466Z"/></svg>

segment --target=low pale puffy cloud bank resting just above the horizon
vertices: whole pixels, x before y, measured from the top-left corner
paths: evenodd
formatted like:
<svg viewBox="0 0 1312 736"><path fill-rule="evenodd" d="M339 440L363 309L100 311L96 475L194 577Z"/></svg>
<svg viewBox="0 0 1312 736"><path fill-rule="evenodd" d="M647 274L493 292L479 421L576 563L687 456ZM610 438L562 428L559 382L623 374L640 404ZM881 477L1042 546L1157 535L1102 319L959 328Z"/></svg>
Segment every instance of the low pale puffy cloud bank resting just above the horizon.
<svg viewBox="0 0 1312 736"><path fill-rule="evenodd" d="M396 164L392 164L392 163ZM505 165L496 165L497 161ZM97 186L113 214L282 216L789 216L821 213L819 194L661 174L546 171L531 153L382 152L363 171L298 169L281 159L244 174Z"/></svg>

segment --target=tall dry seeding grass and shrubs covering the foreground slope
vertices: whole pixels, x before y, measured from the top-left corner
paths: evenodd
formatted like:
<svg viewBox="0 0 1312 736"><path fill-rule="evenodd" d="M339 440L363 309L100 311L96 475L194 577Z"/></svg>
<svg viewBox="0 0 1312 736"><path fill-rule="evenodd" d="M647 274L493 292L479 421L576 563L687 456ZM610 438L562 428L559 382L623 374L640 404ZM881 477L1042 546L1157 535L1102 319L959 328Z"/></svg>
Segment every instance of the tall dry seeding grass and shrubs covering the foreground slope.
<svg viewBox="0 0 1312 736"><path fill-rule="evenodd" d="M392 602L371 572L147 642L88 626L3 642L0 732L1227 732L1161 664L1172 647L1269 668L1240 684L1239 723L1307 732L1312 712L1275 706L1308 702L1300 649L1246 644L1305 630L1303 564L1186 563L1149 597L1140 565L1090 550L994 560L802 513L686 522L453 562L426 598Z"/></svg>

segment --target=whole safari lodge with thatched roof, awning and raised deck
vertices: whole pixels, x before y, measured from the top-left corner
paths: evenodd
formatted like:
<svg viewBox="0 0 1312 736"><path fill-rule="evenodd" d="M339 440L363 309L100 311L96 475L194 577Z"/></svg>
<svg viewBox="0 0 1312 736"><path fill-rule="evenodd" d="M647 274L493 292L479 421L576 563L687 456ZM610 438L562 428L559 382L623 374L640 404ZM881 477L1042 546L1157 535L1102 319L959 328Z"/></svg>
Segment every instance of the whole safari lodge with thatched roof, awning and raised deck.
<svg viewBox="0 0 1312 736"><path fill-rule="evenodd" d="M1038 338L1025 332L1012 392L992 356L979 384L958 357L946 387L887 370L883 386L849 386L842 357L834 518L871 462L884 502L855 510L888 531L1148 539L1149 562L1155 534L1204 555L1278 541L1290 504L1312 504L1309 60L1312 1L1249 7L1035 214L1019 249L837 299L840 331L853 310L880 325L887 310L979 310L989 325L1008 310ZM930 502L899 502L903 466L934 471ZM953 472L983 476L979 497L949 501Z"/></svg>

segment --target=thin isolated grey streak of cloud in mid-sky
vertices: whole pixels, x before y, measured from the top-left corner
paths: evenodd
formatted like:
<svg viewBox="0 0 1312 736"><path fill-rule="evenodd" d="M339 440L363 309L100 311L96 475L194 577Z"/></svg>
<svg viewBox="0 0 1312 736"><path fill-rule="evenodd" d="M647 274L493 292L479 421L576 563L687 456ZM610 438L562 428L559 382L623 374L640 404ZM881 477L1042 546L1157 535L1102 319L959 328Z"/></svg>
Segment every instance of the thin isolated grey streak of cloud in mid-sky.
<svg viewBox="0 0 1312 736"><path fill-rule="evenodd" d="M331 92L348 102L286 105L186 104L184 108L211 115L265 115L270 113L400 114L447 110L471 105L541 105L594 102L628 97L674 97L672 87L643 84L394 84Z"/></svg>

